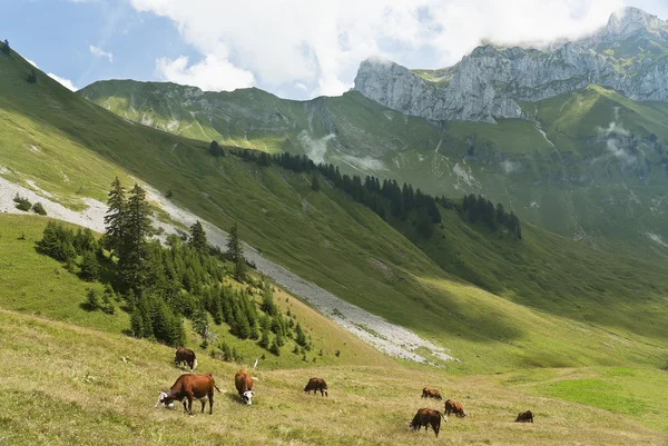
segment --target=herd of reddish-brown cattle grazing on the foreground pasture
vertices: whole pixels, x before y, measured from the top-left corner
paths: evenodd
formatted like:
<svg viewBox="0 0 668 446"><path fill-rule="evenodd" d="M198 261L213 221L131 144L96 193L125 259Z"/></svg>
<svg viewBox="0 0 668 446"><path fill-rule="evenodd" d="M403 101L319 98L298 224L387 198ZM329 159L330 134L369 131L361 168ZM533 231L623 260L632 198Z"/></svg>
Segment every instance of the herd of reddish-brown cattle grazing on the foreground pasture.
<svg viewBox="0 0 668 446"><path fill-rule="evenodd" d="M177 366L180 364L187 364L191 371L197 366L195 351L183 347L177 349L174 364ZM239 399L247 405L253 404L253 396L255 395L255 392L253 390L254 380L258 379L248 375L244 370L238 370L234 376L234 385L239 394ZM184 410L189 415L193 415L193 399L198 399L202 403L202 413L204 413L204 408L208 399L209 415L213 415L214 389L218 390L218 393L220 392L220 389L216 386L212 374L185 374L176 379L176 383L174 383L169 390L158 392L158 403L156 403L155 407L174 408L174 402L183 402ZM314 395L320 392L321 396L328 396L327 384L322 378L311 378L306 386L304 386L304 392L307 394L313 392ZM428 387L422 389L422 398L443 400L443 397L439 390ZM448 399L445 402L444 412L445 414L423 407L418 410L409 427L413 430L420 430L422 427L424 427L424 430L428 432L429 426L431 426L438 437L439 432L441 430L441 419L444 419L445 423L448 423L448 417L451 414L454 414L459 418L464 418L466 416L466 412L462 405L458 402L453 402L452 399ZM515 423L533 423L533 414L531 410L520 413L515 418Z"/></svg>

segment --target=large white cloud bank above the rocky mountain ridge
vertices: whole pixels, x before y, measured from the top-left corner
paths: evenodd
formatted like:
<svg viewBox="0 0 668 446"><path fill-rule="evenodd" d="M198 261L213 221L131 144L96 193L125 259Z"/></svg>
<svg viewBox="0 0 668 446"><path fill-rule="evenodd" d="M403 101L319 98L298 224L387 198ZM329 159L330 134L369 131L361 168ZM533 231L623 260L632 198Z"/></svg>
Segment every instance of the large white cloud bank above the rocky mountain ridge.
<svg viewBox="0 0 668 446"><path fill-rule="evenodd" d="M218 63L225 65L225 72L253 73L258 85L274 91L303 93L298 87L303 85L311 96L338 95L352 87L358 63L372 54L412 68L420 65L436 68L455 63L483 39L514 43L581 36L605 24L613 10L626 4L668 17L664 0L130 0L130 3L139 11L173 20L184 41L206 60L217 58ZM213 69L212 63L203 63ZM203 76L200 65L183 66L179 72L197 80L196 77ZM227 88L235 87L234 79L224 82ZM248 76L237 79L245 82Z"/></svg>

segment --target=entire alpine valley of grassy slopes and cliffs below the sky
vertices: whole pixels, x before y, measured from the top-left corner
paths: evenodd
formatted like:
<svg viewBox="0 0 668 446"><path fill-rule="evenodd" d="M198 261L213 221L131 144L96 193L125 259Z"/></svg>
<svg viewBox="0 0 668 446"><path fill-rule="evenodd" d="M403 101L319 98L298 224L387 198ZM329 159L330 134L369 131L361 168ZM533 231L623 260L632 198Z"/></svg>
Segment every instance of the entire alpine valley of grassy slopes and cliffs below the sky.
<svg viewBox="0 0 668 446"><path fill-rule="evenodd" d="M439 70L370 58L351 91L304 101L135 80L72 92L0 52L0 445L665 445L668 26L638 11ZM143 261L165 270L143 280L183 277L120 280L116 178L146 191L144 241L161 244ZM210 247L193 254L197 221ZM40 248L52 222L92 230L96 279L86 252ZM87 306L111 286L114 311ZM219 320L225 296L256 337L239 308ZM145 297L223 390L213 416L154 408L186 369L171 338L139 335ZM259 378L252 406L239 368ZM304 394L312 376L328 397ZM443 409L425 386L469 414L438 438L409 429ZM534 423L513 423L527 409Z"/></svg>

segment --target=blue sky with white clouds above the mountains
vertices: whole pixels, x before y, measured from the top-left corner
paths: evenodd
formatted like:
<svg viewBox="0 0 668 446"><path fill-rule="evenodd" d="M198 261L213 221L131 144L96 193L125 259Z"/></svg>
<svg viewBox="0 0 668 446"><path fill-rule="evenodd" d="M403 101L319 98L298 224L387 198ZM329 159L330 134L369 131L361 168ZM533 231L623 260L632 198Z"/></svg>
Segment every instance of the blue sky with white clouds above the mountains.
<svg viewBox="0 0 668 446"><path fill-rule="evenodd" d="M70 89L96 80L336 96L360 62L456 63L484 41L576 38L668 0L0 0L0 39Z"/></svg>

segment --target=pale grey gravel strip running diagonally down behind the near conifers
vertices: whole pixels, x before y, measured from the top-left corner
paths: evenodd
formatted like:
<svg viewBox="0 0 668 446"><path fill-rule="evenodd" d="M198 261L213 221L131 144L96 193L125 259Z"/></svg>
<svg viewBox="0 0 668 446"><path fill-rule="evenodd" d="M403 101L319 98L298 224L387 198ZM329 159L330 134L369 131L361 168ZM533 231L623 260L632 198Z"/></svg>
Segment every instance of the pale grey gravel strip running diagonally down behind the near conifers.
<svg viewBox="0 0 668 446"><path fill-rule="evenodd" d="M169 201L156 189L146 185L144 185L144 187L147 190L148 200L157 204L163 210L169 214L174 221L189 227L199 219L189 210L183 209ZM107 206L105 204L92 198L84 198L82 200L88 208L77 212L1 177L0 212L24 214L14 207L13 197L17 192L20 196L28 198L30 201L41 201L48 216L51 218L80 225L98 232L104 232L105 230L104 218L107 211ZM199 220L207 232L209 242L220 249L225 249L227 232L207 221ZM154 219L154 226L164 228L167 234L176 234L176 228L171 225ZM244 244L244 249L246 258L255 264L258 271L275 280L289 293L301 297L320 313L330 317L341 327L380 351L393 357L431 365L436 364L434 364L432 359L425 357L425 355L421 354L425 349L431 353L431 356L441 361L459 360L450 356L446 353L448 350L443 347L422 339L420 336L404 327L391 324L380 316L352 305L317 285L302 279L297 275L291 272L287 268L267 260L249 245ZM421 353L416 353L418 349L420 349Z"/></svg>

